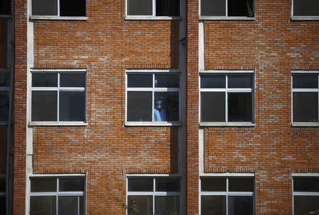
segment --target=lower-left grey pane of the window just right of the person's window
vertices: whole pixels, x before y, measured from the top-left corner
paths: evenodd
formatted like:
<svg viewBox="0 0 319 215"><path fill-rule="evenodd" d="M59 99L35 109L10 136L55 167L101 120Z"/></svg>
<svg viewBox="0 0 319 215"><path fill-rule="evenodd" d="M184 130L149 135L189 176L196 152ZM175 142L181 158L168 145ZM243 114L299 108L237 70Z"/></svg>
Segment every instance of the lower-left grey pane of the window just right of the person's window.
<svg viewBox="0 0 319 215"><path fill-rule="evenodd" d="M225 93L201 93L201 122L225 122Z"/></svg>

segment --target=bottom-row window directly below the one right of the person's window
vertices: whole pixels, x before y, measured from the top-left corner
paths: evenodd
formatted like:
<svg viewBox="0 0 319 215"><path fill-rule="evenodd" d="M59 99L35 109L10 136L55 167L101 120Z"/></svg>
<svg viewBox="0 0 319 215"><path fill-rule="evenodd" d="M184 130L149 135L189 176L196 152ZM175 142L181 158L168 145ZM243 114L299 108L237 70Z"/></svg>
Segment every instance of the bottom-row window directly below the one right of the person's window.
<svg viewBox="0 0 319 215"><path fill-rule="evenodd" d="M254 178L201 178L201 215L254 214Z"/></svg>

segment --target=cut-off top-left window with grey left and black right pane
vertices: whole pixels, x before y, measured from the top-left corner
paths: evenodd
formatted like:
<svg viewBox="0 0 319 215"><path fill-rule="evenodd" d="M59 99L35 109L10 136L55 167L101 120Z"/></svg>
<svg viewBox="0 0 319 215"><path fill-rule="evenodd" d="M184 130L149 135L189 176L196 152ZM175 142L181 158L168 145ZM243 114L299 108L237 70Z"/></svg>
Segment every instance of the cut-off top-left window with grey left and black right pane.
<svg viewBox="0 0 319 215"><path fill-rule="evenodd" d="M86 16L86 0L32 0L32 15Z"/></svg>

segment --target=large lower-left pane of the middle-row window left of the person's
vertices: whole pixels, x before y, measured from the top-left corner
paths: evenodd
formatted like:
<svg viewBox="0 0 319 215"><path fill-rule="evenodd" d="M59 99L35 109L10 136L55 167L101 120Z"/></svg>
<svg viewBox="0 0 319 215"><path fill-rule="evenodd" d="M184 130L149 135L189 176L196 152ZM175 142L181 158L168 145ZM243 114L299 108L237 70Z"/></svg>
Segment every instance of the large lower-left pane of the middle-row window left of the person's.
<svg viewBox="0 0 319 215"><path fill-rule="evenodd" d="M32 121L57 121L57 91L32 91Z"/></svg>

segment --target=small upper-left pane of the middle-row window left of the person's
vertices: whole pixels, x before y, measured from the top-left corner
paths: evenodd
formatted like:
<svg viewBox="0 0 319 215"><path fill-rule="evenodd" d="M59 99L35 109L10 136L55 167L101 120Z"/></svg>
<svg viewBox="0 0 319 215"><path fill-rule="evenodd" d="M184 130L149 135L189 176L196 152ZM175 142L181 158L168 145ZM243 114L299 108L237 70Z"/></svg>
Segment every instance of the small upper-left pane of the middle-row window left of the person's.
<svg viewBox="0 0 319 215"><path fill-rule="evenodd" d="M57 87L57 74L55 73L33 73L33 87Z"/></svg>

